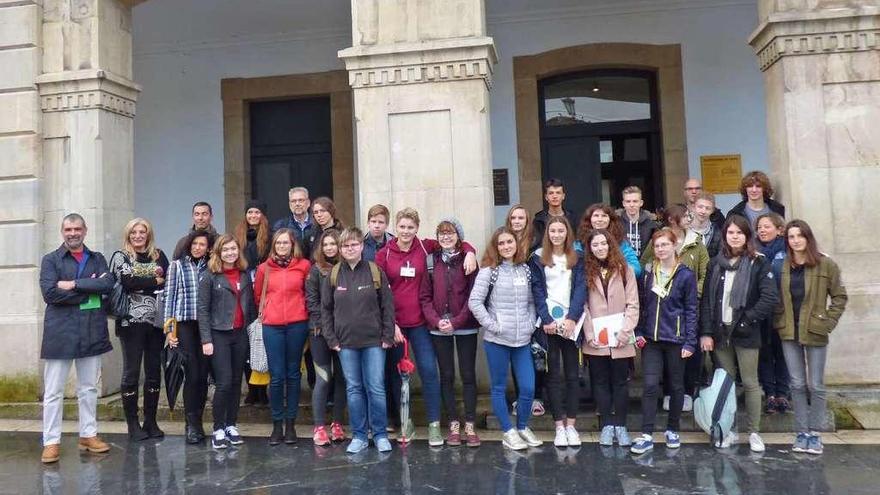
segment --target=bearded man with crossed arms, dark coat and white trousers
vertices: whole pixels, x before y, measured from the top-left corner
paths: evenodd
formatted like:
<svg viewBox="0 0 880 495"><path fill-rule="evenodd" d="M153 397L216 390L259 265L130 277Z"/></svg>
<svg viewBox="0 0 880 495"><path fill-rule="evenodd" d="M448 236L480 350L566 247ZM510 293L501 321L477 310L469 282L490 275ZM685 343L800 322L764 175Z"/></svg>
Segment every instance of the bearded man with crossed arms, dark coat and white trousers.
<svg viewBox="0 0 880 495"><path fill-rule="evenodd" d="M110 450L98 438L96 414L101 354L113 349L101 295L113 289L114 279L104 255L84 244L87 231L79 214L64 217L64 243L40 263L40 291L46 301L40 349L45 360L41 460L46 464L60 457L64 384L71 365L76 366L79 448L95 453Z"/></svg>

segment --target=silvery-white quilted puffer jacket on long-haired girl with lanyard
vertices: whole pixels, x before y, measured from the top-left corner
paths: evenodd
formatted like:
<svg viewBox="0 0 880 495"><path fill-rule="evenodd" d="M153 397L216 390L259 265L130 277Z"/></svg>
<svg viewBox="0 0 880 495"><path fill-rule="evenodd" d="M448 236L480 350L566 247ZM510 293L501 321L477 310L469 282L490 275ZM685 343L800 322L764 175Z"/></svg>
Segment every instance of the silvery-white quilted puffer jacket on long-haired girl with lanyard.
<svg viewBox="0 0 880 495"><path fill-rule="evenodd" d="M497 271L490 293L492 272ZM527 345L535 330L535 301L529 267L505 261L480 269L468 299L468 307L485 329L483 339L508 347Z"/></svg>

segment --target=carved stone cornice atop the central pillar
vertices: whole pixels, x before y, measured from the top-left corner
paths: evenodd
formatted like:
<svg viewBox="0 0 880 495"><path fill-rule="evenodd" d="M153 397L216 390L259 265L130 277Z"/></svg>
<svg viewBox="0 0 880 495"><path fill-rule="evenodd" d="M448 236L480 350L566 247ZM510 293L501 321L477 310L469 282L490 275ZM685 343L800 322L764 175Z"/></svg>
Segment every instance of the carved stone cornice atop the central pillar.
<svg viewBox="0 0 880 495"><path fill-rule="evenodd" d="M480 79L492 87L492 38L356 46L339 52L352 88Z"/></svg>

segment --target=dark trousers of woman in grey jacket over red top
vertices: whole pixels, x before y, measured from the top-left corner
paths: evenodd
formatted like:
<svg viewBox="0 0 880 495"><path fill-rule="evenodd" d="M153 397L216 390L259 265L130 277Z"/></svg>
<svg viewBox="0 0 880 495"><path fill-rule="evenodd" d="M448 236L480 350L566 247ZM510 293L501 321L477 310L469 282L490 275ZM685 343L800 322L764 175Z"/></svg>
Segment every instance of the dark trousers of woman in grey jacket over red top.
<svg viewBox="0 0 880 495"><path fill-rule="evenodd" d="M241 402L241 376L247 360L247 331L211 330L214 341L214 354L211 356L211 369L214 372L214 400L211 402L214 413L214 431L238 422L238 406Z"/></svg>

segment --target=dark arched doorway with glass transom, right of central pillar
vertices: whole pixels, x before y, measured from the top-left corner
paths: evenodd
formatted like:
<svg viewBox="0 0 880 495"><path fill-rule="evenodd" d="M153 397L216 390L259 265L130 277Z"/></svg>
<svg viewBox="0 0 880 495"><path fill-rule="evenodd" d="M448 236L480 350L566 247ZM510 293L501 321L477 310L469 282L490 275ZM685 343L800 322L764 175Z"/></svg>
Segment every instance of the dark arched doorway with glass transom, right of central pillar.
<svg viewBox="0 0 880 495"><path fill-rule="evenodd" d="M566 185L566 207L621 207L620 192L642 189L645 209L662 205L663 167L656 75L602 69L540 82L541 176Z"/></svg>

